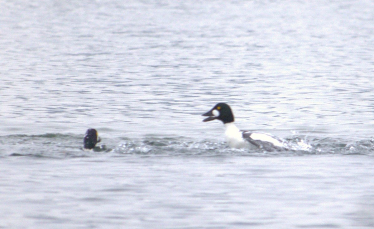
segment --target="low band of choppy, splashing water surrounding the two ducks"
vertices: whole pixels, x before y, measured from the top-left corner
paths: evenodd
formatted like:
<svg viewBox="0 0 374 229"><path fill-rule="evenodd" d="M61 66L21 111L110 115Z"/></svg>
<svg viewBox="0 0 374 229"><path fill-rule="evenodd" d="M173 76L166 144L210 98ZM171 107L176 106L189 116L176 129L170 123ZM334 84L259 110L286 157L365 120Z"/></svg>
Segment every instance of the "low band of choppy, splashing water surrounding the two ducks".
<svg viewBox="0 0 374 229"><path fill-rule="evenodd" d="M163 156L219 156L243 155L253 157L302 155L374 155L374 138L352 141L333 138L292 136L285 139L285 148L232 149L224 141L187 139L186 137L144 137L141 139L102 139L92 151L83 150L82 136L48 133L40 135L0 136L0 157L93 157L110 155L163 155Z"/></svg>

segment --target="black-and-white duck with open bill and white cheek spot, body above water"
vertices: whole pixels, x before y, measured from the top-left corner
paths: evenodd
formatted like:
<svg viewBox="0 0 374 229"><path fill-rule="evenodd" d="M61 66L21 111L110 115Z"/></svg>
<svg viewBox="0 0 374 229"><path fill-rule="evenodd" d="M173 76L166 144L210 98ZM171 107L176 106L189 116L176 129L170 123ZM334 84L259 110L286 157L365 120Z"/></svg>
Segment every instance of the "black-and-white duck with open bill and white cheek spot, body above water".
<svg viewBox="0 0 374 229"><path fill-rule="evenodd" d="M266 133L255 131L239 130L234 124L234 115L229 105L226 103L217 103L210 111L203 114L208 116L203 122L212 120L221 120L225 125L226 140L231 148L244 148L248 145L265 149L266 151L274 151L284 149L285 144L282 140L270 136Z"/></svg>

